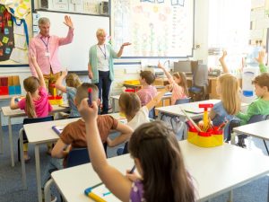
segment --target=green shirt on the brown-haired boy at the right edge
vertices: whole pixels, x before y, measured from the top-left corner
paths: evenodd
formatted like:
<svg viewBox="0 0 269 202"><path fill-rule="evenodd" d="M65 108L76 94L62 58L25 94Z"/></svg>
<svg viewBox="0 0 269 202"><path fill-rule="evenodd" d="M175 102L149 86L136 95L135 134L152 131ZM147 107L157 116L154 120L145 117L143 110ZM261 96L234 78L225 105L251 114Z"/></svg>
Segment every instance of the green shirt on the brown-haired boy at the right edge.
<svg viewBox="0 0 269 202"><path fill-rule="evenodd" d="M237 117L241 119L241 125L245 125L253 115L267 114L269 114L269 101L258 98L248 106L247 113L239 112Z"/></svg>

